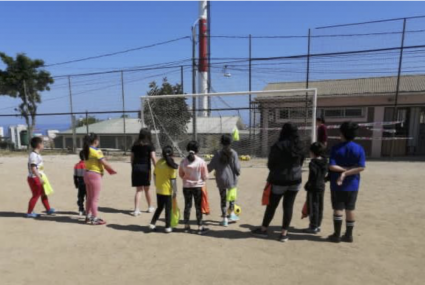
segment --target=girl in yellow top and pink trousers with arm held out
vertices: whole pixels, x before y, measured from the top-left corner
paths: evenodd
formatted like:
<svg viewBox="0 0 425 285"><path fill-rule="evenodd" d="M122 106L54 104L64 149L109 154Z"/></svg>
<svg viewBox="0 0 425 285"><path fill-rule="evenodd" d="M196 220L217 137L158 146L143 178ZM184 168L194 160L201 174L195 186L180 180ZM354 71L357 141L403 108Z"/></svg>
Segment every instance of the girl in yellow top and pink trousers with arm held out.
<svg viewBox="0 0 425 285"><path fill-rule="evenodd" d="M99 138L91 133L84 138L84 161L86 171L84 173L84 182L87 188L86 199L86 222L92 225L104 225L106 222L98 217L97 206L99 202L100 190L102 189L102 176L105 169L109 174L116 174L116 171L106 161L103 153L97 147Z"/></svg>

